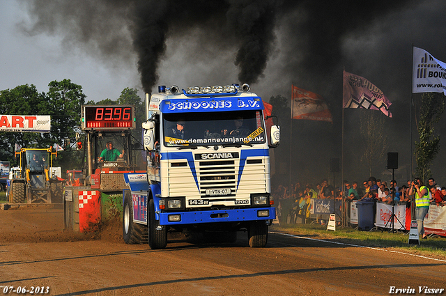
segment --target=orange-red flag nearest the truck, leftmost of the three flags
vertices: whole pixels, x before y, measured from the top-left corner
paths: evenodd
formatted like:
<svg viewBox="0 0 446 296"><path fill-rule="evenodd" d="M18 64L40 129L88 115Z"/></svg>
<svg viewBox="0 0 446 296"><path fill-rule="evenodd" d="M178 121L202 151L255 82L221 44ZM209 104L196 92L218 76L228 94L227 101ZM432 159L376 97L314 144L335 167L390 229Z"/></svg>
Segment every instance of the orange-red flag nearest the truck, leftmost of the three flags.
<svg viewBox="0 0 446 296"><path fill-rule="evenodd" d="M293 88L293 119L321 120L332 123L332 114L321 95Z"/></svg>

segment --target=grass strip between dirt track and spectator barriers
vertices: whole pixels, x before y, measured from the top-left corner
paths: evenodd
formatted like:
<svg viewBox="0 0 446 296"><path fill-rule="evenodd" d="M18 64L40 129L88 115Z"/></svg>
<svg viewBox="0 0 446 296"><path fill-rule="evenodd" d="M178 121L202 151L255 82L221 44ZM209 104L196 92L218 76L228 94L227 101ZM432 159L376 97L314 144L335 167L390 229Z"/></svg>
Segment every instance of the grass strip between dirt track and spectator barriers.
<svg viewBox="0 0 446 296"><path fill-rule="evenodd" d="M421 256L435 256L446 259L446 237L420 239L420 245L409 245L408 235L389 233L388 231L358 231L351 227L336 227L336 231L327 231L326 226L318 224L273 224L270 231L284 231L300 236L310 236L334 242L357 244L366 247L390 248Z"/></svg>

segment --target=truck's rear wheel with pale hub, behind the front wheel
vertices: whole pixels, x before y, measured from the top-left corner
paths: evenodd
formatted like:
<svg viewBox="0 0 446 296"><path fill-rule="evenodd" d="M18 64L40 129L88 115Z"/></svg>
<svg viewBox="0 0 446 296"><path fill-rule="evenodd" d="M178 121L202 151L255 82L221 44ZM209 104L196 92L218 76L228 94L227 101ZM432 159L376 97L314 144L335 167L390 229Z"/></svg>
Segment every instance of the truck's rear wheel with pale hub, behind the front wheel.
<svg viewBox="0 0 446 296"><path fill-rule="evenodd" d="M148 242L147 226L133 221L133 202L130 192L125 192L124 198L123 238L126 244L146 244Z"/></svg>

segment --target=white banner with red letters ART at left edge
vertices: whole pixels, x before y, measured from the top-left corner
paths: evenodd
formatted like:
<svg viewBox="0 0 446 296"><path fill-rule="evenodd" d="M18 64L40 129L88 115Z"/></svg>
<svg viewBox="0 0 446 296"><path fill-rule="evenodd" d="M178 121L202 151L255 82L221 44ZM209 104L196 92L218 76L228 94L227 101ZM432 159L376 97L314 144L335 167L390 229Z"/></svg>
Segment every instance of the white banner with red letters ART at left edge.
<svg viewBox="0 0 446 296"><path fill-rule="evenodd" d="M0 132L49 132L49 115L0 115Z"/></svg>

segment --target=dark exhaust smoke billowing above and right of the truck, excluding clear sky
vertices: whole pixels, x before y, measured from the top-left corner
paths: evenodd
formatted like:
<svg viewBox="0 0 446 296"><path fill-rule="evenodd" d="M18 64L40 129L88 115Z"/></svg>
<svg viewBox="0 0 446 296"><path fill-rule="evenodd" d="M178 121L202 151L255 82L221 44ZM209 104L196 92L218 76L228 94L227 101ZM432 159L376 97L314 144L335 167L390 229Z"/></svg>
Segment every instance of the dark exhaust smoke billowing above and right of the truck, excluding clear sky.
<svg viewBox="0 0 446 296"><path fill-rule="evenodd" d="M23 3L31 15L22 24L24 32L63 36L66 50L87 52L116 75L120 69L136 67L144 92L153 92L157 84L185 88L239 82L251 84L266 100L272 95L290 98L291 84L322 95L334 116L333 125L293 120L291 143L282 134L280 149L295 149L293 179L326 178L329 159L341 155L344 69L369 79L393 103L394 118L386 118L390 150L399 151L400 164L410 166L412 45L446 61L446 2L441 0ZM359 167L360 155L355 151L360 114L345 110L344 164L349 179L368 174ZM438 131L446 133L444 127ZM281 153L279 148L276 151ZM443 178L440 167L446 165L442 151L438 169L433 169L438 178ZM382 171L385 164L378 167Z"/></svg>

